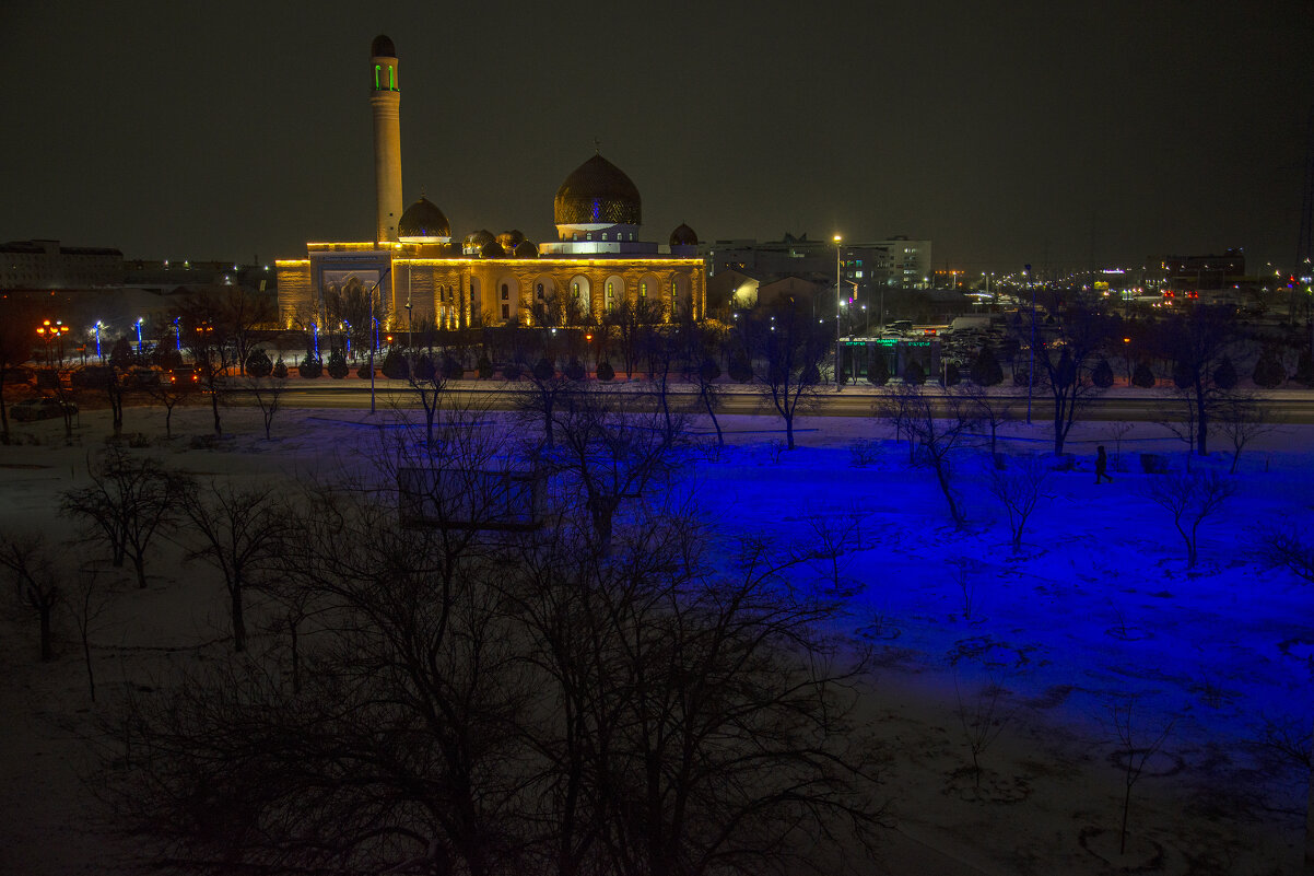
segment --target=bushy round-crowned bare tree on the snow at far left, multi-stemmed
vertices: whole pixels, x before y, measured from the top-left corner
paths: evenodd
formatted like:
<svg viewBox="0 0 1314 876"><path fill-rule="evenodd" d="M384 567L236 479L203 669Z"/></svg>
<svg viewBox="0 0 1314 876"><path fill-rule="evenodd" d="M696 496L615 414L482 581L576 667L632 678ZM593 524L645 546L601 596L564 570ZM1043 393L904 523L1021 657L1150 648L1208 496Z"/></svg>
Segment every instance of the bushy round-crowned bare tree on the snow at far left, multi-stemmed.
<svg viewBox="0 0 1314 876"><path fill-rule="evenodd" d="M146 587L146 554L176 514L176 477L158 459L138 459L110 446L87 463L92 485L63 495L60 510L79 517L110 548L116 567L133 560L137 585Z"/></svg>

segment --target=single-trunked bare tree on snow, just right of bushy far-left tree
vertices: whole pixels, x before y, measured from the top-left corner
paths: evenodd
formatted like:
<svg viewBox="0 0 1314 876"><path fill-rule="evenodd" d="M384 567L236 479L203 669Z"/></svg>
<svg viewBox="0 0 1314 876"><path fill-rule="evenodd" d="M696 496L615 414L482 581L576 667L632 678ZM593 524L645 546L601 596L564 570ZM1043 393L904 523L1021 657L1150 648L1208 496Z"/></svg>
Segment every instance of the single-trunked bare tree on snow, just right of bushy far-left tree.
<svg viewBox="0 0 1314 876"><path fill-rule="evenodd" d="M188 559L205 560L223 576L233 622L233 648L246 650L244 605L247 591L259 587L288 535L271 488L238 489L209 483L180 489L183 510L191 526Z"/></svg>

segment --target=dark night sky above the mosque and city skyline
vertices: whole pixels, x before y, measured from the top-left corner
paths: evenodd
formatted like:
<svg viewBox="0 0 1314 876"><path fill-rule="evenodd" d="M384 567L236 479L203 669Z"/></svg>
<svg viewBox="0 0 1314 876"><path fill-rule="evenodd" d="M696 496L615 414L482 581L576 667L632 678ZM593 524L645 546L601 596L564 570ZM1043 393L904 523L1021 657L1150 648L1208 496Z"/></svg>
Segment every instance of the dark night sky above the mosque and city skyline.
<svg viewBox="0 0 1314 876"><path fill-rule="evenodd" d="M0 12L0 239L261 262L367 239L369 43L403 200L552 235L602 154L644 237L930 238L936 267L1294 256L1314 5L41 3Z"/></svg>

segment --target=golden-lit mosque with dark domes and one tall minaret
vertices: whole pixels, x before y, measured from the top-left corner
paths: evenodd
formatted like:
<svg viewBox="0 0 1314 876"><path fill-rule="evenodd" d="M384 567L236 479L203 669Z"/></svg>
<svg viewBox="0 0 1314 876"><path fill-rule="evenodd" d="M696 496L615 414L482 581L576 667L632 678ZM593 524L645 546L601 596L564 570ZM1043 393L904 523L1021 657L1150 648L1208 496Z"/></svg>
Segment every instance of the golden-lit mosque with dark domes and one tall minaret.
<svg viewBox="0 0 1314 876"><path fill-rule="evenodd" d="M281 259L279 316L309 329L328 318L326 301L352 288L380 296L386 330L436 325L585 325L628 301L657 321L702 318L707 272L687 225L669 245L639 239L643 205L631 179L600 154L557 189L557 239L532 243L520 231L477 230L457 241L442 209L424 197L402 207L401 88L397 50L371 46L378 214L369 242L307 243L306 258Z"/></svg>

